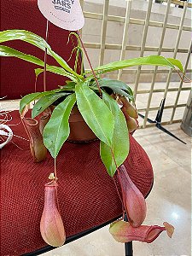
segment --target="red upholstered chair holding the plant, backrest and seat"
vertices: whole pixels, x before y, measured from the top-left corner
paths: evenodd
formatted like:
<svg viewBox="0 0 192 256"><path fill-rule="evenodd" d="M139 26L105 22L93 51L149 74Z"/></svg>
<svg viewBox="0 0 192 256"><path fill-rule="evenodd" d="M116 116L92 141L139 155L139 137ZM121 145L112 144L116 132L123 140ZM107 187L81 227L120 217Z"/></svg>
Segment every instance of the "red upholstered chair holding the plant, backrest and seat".
<svg viewBox="0 0 192 256"><path fill-rule="evenodd" d="M46 20L38 11L36 0L2 1L2 27L26 29L44 37ZM51 25L49 44L67 60L73 45L67 44L68 32ZM75 43L75 42L74 42ZM29 44L10 43L39 58L44 53ZM73 67L73 59L70 65ZM1 96L20 98L34 91L34 71L25 61L1 60ZM38 90L43 90L38 80ZM63 84L63 79L48 73L48 89ZM11 113L8 125L20 123L18 111ZM26 137L21 124L11 126L14 134ZM39 223L44 208L44 183L53 172L54 160L34 163L26 140L14 137L1 150L1 255L38 255L53 247L47 246L40 235ZM132 181L146 197L152 188L153 170L148 155L130 136L131 150L125 167ZM58 198L67 233L67 242L89 234L122 216L119 195L113 179L108 176L99 154L99 142L65 143L57 160L59 177ZM116 177L115 177L116 179ZM110 236L110 235L108 235ZM127 247L127 245L126 245ZM131 250L131 243L128 243ZM126 255L131 255L126 248Z"/></svg>

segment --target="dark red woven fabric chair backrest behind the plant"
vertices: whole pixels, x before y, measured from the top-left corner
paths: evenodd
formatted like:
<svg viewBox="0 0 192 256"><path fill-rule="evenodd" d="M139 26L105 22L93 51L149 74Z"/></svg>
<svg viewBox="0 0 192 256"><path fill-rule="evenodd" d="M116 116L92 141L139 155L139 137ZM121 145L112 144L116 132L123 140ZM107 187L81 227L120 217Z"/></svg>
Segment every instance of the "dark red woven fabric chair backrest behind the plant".
<svg viewBox="0 0 192 256"><path fill-rule="evenodd" d="M46 19L38 9L37 0L1 0L1 31L8 29L24 29L34 32L45 38ZM70 58L72 49L77 45L77 38L67 44L69 32L49 23L49 40L51 48L61 55L65 61ZM44 60L44 51L22 41L3 43L9 47L20 50L26 54L34 55ZM34 92L35 73L37 65L16 59L14 57L2 57L1 61L1 92L0 97L6 99L19 99L28 93ZM59 64L48 56L48 64L59 66ZM74 55L67 62L74 67ZM63 85L65 77L47 73L47 90ZM43 73L39 75L37 91L43 90Z"/></svg>

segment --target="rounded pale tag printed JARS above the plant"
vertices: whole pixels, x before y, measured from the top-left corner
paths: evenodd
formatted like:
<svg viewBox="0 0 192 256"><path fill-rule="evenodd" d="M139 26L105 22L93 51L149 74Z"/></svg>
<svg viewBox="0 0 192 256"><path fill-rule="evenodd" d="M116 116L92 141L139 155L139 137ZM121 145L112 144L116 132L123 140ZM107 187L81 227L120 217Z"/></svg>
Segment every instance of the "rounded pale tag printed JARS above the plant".
<svg viewBox="0 0 192 256"><path fill-rule="evenodd" d="M55 26L69 31L77 31L84 26L79 0L38 0L38 8Z"/></svg>

